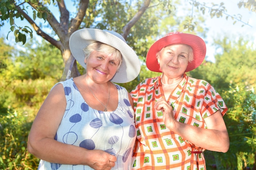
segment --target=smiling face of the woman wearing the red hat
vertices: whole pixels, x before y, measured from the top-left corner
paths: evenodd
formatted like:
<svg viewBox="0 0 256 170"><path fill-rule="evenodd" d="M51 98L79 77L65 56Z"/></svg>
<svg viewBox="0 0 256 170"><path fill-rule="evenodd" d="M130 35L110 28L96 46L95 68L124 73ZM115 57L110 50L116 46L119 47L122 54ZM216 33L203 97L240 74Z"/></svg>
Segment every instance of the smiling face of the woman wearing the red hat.
<svg viewBox="0 0 256 170"><path fill-rule="evenodd" d="M185 44L172 44L162 48L157 53L157 61L163 74L168 77L181 76L191 60L193 52L190 46Z"/></svg>

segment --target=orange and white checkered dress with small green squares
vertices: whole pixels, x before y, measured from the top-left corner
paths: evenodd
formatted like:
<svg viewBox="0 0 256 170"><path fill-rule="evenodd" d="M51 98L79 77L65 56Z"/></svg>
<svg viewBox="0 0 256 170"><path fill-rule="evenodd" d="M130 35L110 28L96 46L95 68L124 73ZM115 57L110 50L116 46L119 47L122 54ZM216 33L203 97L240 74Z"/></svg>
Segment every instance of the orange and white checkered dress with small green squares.
<svg viewBox="0 0 256 170"><path fill-rule="evenodd" d="M220 94L206 81L186 76L168 98L177 121L207 128L204 118L220 110L227 112ZM204 148L166 128L162 111L153 109L164 96L160 77L148 78L130 92L135 105L137 139L132 169L206 170Z"/></svg>

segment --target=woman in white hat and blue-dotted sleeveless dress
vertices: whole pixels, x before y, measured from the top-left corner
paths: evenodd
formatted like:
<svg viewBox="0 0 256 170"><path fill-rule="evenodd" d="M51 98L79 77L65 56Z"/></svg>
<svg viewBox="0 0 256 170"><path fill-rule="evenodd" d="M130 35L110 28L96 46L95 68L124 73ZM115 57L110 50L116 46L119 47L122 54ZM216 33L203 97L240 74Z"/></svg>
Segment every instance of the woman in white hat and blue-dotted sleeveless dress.
<svg viewBox="0 0 256 170"><path fill-rule="evenodd" d="M52 88L31 127L28 151L41 159L38 170L131 169L133 101L115 83L135 79L139 59L113 31L83 28L69 45L86 74Z"/></svg>

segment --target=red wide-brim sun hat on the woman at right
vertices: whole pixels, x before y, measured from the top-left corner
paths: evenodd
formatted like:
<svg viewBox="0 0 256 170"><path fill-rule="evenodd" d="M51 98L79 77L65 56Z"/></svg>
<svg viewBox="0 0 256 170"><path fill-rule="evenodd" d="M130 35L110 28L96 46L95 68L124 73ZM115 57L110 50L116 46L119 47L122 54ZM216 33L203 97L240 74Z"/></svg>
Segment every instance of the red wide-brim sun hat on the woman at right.
<svg viewBox="0 0 256 170"><path fill-rule="evenodd" d="M202 64L206 54L206 45L202 38L197 35L187 34L182 32L168 33L165 37L155 41L149 48L146 56L146 66L153 72L162 72L159 63L157 62L156 54L162 48L171 44L186 44L191 46L193 50L193 61L189 62L185 72L194 70Z"/></svg>

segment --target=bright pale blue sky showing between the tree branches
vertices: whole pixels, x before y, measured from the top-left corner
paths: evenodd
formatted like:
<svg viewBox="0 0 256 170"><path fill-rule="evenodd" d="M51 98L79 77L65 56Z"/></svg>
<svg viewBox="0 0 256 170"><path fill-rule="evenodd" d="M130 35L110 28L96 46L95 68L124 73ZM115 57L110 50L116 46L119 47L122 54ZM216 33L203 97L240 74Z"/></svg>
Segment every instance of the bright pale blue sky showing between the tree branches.
<svg viewBox="0 0 256 170"><path fill-rule="evenodd" d="M245 36L250 37L252 40L254 40L254 44L256 44L256 13L249 11L248 9L244 9L243 7L241 9L238 8L237 4L240 0L198 0L199 2L203 3L205 2L207 6L211 7L211 2L214 2L215 4L218 4L220 2L224 2L224 6L227 9L227 14L229 15L242 15L242 21L248 22L248 25L245 25L242 27L243 23L237 21L236 24L233 24L234 20L226 20L225 15L222 18L210 18L210 16L206 14L208 19L205 22L205 26L209 28L209 32L207 33L207 54L206 59L208 61L214 62L214 54L216 54L215 47L211 44L213 43L213 39L216 39L216 37L221 38L224 35L227 35L229 37L239 37L239 36ZM191 2L189 0L182 0L180 1L181 4L188 4L188 2ZM67 8L73 7L72 4L67 4ZM70 11L74 11L74 8L69 9ZM27 24L27 22L26 22ZM29 24L27 24L29 25ZM4 35L7 35L9 32L9 23L5 23L4 27L0 28L0 35L4 37ZM8 44L15 44L15 39L12 36L13 33L10 33L9 41L6 41ZM36 34L34 34L34 38L40 39ZM256 47L255 47L256 48Z"/></svg>

